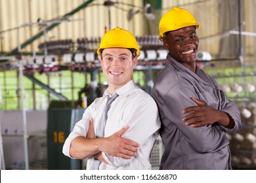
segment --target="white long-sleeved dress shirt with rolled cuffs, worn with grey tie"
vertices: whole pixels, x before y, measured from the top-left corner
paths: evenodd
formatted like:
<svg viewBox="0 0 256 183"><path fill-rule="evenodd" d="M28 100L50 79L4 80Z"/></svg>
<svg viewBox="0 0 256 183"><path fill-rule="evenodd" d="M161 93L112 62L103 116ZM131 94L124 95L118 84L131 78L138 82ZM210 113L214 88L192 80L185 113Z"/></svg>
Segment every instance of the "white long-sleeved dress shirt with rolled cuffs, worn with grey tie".
<svg viewBox="0 0 256 183"><path fill-rule="evenodd" d="M116 93L119 97L112 103L108 111L104 137L109 137L121 128L129 125L128 131L122 137L138 142L140 147L136 156L131 159L107 156L102 152L102 156L109 164L100 163L99 169L151 169L150 153L158 137L158 130L160 129L158 107L154 99L148 93L141 90L133 80L117 90ZM100 122L108 95L110 94L107 89L103 97L96 98L86 108L83 118L75 124L74 130L64 143L63 153L66 156L70 157L70 144L75 137L87 136L90 118L93 118L95 131L97 130L96 128L98 122ZM87 169L90 169L92 163L93 157L87 160Z"/></svg>

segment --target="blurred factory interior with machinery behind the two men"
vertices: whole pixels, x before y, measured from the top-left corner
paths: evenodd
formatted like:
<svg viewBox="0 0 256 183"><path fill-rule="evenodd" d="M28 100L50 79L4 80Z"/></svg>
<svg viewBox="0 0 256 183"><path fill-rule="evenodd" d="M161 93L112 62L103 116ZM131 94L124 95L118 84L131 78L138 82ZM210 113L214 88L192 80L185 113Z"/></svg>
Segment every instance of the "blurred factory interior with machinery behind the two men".
<svg viewBox="0 0 256 183"><path fill-rule="evenodd" d="M86 169L86 159L64 156L62 146L108 87L96 54L101 38L117 26L135 35L133 79L150 94L167 65L158 24L171 7L194 14L197 64L240 109L242 128L226 134L232 168L256 169L256 1L0 0L1 169ZM162 153L159 137L152 169Z"/></svg>

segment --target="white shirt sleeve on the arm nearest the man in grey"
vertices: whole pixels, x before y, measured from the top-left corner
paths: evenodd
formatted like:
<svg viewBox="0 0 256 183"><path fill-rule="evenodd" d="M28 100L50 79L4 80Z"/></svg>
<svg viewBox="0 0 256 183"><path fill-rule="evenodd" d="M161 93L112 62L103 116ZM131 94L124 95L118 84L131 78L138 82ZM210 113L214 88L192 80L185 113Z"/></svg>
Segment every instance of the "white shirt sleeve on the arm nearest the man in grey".
<svg viewBox="0 0 256 183"><path fill-rule="evenodd" d="M136 104L136 105L135 105ZM160 119L158 115L158 107L152 97L135 101L133 105L127 105L123 120L129 125L127 132L123 134L123 138L131 139L144 145L149 138L158 137L158 129L160 129ZM129 112L128 112L129 111ZM153 146L152 146L153 148ZM115 167L123 167L130 163L131 159L123 159L115 156L108 156L102 153L104 159Z"/></svg>

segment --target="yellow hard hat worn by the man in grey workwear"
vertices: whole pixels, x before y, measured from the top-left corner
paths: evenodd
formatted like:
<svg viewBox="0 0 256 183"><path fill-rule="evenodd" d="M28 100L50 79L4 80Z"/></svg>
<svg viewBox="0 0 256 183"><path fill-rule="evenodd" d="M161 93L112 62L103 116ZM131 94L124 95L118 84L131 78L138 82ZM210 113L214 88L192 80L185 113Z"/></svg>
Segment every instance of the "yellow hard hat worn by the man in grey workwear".
<svg viewBox="0 0 256 183"><path fill-rule="evenodd" d="M161 17L159 23L159 40L163 41L164 33L168 31L175 31L192 25L196 26L197 29L200 27L200 24L196 22L196 19L188 10L173 7Z"/></svg>

